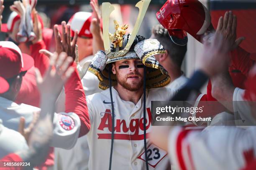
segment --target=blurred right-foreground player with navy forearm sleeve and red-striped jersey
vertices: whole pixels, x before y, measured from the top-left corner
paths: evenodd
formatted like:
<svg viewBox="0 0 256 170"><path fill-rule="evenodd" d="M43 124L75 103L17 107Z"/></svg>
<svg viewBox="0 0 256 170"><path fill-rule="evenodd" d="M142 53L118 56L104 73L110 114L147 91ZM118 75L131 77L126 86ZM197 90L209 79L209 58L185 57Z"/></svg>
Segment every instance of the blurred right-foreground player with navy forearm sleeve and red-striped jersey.
<svg viewBox="0 0 256 170"><path fill-rule="evenodd" d="M228 45L225 43L216 36L211 45L205 45L203 55L198 58L199 69L172 100L186 100L187 93L200 89L206 82L204 75L213 77L225 70L225 64L215 67L228 56ZM254 92L255 88L248 90ZM197 127L159 126L152 130L151 141L168 149L172 164L180 170L239 170L255 160L255 130L254 126L246 130L214 126L203 131Z"/></svg>

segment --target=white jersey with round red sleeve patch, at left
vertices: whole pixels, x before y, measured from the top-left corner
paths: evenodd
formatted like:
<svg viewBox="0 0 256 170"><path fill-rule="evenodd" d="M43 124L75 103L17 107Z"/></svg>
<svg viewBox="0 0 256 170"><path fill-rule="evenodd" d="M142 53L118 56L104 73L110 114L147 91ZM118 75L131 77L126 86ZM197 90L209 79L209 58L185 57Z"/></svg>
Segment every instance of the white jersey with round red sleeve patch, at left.
<svg viewBox="0 0 256 170"><path fill-rule="evenodd" d="M20 104L0 97L0 117L6 128L18 131L20 117L25 117L25 127L33 120L33 112L40 108ZM77 142L80 130L80 119L75 113L54 113L54 134L51 140L52 147L70 149ZM42 137L43 138L43 137Z"/></svg>

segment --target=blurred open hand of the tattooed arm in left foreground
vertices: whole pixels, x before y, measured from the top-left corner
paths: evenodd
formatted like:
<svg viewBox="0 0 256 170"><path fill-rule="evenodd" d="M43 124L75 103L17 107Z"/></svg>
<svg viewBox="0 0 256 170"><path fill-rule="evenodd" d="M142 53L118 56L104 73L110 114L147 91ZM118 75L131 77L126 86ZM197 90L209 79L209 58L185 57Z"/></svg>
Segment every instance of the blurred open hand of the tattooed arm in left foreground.
<svg viewBox="0 0 256 170"><path fill-rule="evenodd" d="M50 57L50 65L44 78L36 69L36 81L41 95L57 99L64 83L74 72L74 67L70 66L72 61L72 57L68 57L65 52L59 55L55 52Z"/></svg>

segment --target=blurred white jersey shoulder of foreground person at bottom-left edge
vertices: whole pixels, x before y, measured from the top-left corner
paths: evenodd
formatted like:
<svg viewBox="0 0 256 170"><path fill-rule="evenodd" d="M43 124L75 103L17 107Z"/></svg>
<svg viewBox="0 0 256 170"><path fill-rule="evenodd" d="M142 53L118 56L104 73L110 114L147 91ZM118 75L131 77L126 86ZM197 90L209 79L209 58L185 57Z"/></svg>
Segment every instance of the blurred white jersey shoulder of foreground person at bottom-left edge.
<svg viewBox="0 0 256 170"><path fill-rule="evenodd" d="M0 119L0 159L21 150L27 150L25 138L15 130L6 128Z"/></svg>

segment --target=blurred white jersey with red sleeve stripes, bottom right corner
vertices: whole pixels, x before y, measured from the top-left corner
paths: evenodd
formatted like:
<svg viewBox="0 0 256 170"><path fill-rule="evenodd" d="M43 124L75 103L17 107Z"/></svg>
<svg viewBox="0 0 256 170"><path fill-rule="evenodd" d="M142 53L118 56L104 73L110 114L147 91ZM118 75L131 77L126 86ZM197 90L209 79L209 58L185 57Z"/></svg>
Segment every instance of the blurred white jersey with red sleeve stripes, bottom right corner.
<svg viewBox="0 0 256 170"><path fill-rule="evenodd" d="M179 170L241 170L256 158L256 127L176 127L168 145L171 163Z"/></svg>

